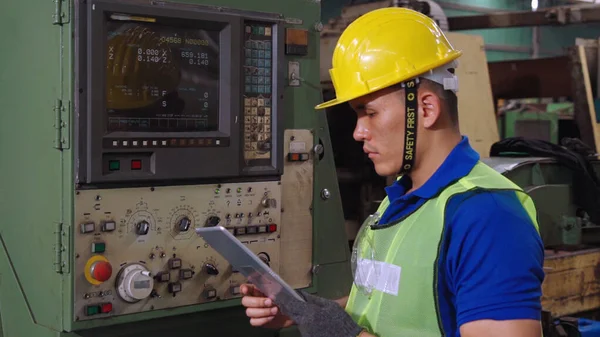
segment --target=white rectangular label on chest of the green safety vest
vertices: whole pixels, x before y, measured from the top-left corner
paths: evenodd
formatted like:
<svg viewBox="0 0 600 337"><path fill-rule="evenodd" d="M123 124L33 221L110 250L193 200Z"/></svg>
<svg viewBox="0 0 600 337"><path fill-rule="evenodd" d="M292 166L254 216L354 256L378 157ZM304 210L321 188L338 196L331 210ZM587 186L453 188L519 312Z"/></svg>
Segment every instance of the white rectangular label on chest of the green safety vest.
<svg viewBox="0 0 600 337"><path fill-rule="evenodd" d="M386 262L359 259L356 264L354 283L398 296L402 268Z"/></svg>

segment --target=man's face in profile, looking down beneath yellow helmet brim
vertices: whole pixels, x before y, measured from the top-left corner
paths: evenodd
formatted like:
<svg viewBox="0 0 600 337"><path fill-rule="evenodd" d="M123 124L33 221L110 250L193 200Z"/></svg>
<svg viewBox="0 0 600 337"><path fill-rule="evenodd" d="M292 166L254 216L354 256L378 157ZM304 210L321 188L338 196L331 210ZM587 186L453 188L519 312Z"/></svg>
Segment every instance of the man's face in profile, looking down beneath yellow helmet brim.
<svg viewBox="0 0 600 337"><path fill-rule="evenodd" d="M354 139L364 142L363 150L380 176L395 175L402 167L405 108L401 93L385 89L350 102L358 117Z"/></svg>

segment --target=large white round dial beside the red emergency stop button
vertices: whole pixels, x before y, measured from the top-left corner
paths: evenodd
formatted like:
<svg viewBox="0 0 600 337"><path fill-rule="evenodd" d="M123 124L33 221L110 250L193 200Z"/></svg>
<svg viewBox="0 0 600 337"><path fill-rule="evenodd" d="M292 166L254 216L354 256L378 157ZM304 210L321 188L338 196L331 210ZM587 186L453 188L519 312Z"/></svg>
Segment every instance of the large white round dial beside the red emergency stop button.
<svg viewBox="0 0 600 337"><path fill-rule="evenodd" d="M127 265L117 277L117 292L126 302L141 301L152 294L154 279L150 271L139 263Z"/></svg>

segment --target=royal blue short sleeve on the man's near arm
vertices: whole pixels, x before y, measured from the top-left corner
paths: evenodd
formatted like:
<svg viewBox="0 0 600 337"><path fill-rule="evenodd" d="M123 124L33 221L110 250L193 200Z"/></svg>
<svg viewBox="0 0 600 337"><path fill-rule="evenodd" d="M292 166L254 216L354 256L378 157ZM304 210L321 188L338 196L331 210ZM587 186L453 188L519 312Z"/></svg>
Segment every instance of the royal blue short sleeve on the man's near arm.
<svg viewBox="0 0 600 337"><path fill-rule="evenodd" d="M481 319L540 319L544 247L514 192L449 203L445 273L457 327Z"/></svg>

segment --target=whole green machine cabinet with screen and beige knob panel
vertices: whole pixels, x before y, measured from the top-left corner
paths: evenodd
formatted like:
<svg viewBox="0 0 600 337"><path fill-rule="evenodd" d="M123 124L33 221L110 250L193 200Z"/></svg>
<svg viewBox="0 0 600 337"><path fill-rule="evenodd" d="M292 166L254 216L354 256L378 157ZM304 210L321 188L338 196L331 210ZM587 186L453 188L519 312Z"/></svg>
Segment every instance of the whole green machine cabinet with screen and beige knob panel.
<svg viewBox="0 0 600 337"><path fill-rule="evenodd" d="M347 294L318 2L0 9L0 336L277 336L202 226Z"/></svg>

